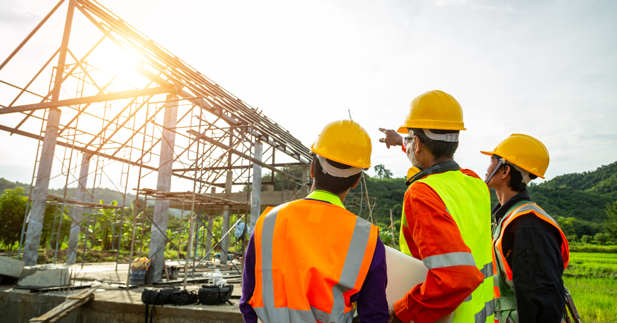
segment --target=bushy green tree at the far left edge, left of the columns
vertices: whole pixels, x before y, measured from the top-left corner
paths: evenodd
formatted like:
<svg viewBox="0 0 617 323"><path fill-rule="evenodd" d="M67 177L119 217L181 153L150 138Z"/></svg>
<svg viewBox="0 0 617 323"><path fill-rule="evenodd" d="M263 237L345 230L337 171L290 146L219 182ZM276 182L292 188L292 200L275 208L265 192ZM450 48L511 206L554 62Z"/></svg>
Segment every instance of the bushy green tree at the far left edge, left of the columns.
<svg viewBox="0 0 617 323"><path fill-rule="evenodd" d="M23 216L28 198L23 196L23 188L4 190L0 196L0 240L9 249L19 241L22 233Z"/></svg>

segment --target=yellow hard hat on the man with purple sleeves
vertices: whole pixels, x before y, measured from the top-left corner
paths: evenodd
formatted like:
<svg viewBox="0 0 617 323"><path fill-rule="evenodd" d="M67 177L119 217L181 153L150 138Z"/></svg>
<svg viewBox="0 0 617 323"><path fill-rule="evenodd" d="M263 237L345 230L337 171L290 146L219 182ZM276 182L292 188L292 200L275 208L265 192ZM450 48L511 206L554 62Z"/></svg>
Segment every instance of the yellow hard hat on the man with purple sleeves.
<svg viewBox="0 0 617 323"><path fill-rule="evenodd" d="M371 167L371 137L354 120L330 122L321 129L310 151L354 167Z"/></svg>

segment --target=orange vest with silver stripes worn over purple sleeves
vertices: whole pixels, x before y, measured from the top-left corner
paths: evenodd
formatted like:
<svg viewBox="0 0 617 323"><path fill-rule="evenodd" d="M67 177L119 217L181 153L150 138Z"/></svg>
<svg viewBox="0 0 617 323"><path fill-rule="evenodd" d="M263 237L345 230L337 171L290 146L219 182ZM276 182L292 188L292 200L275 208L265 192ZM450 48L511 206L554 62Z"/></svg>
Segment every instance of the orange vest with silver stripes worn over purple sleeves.
<svg viewBox="0 0 617 323"><path fill-rule="evenodd" d="M255 224L255 291L264 323L351 322L378 228L339 206L299 199Z"/></svg>

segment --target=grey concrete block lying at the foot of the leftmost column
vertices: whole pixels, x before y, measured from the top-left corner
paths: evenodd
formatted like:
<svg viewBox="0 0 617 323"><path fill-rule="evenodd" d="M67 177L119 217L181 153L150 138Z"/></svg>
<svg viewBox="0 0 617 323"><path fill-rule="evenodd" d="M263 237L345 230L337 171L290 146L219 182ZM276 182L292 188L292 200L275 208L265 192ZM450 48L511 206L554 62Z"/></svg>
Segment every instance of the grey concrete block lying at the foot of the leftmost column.
<svg viewBox="0 0 617 323"><path fill-rule="evenodd" d="M68 284L68 267L33 266L23 267L17 287L48 288Z"/></svg>

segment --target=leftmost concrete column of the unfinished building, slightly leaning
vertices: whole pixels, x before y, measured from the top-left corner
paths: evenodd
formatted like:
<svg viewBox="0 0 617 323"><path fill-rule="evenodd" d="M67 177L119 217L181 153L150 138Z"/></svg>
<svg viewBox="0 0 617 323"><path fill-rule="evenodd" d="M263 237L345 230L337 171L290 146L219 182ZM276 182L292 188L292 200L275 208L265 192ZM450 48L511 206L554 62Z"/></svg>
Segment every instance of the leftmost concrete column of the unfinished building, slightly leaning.
<svg viewBox="0 0 617 323"><path fill-rule="evenodd" d="M26 266L35 266L36 258L38 257L41 231L43 230L43 217L45 216L47 191L49 188L49 175L51 174L51 165L54 161L54 151L56 150L59 125L60 109L49 109L47 124L45 126L45 136L43 138L43 149L41 149L41 159L39 159L38 171L36 172L36 184L35 188L32 190L32 206L28 213L28 231L26 232L23 246L22 260Z"/></svg>

